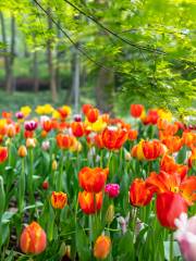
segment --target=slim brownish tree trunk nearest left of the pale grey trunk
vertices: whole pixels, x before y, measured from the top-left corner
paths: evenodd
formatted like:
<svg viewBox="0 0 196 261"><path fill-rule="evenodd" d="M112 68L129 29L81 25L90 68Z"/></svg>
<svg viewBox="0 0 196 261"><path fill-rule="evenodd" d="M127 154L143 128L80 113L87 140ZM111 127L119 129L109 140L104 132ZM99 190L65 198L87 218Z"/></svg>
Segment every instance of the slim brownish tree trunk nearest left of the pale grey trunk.
<svg viewBox="0 0 196 261"><path fill-rule="evenodd" d="M48 12L50 13L50 10L48 10ZM48 28L49 30L52 29L52 21L49 17L48 17ZM47 54L48 54L48 71L50 76L50 90L51 90L52 101L57 102L58 94L57 94L57 82L56 82L56 69L52 61L51 39L48 40Z"/></svg>

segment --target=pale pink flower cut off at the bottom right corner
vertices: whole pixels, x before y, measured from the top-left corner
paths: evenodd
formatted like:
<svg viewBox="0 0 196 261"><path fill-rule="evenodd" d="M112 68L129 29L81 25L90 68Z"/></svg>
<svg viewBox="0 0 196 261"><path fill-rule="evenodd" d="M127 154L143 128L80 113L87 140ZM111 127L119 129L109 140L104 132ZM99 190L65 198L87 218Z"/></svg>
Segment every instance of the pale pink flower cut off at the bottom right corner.
<svg viewBox="0 0 196 261"><path fill-rule="evenodd" d="M196 215L187 219L186 213L182 213L175 220L179 228L175 232L175 239L179 241L181 252L186 261L196 260Z"/></svg>

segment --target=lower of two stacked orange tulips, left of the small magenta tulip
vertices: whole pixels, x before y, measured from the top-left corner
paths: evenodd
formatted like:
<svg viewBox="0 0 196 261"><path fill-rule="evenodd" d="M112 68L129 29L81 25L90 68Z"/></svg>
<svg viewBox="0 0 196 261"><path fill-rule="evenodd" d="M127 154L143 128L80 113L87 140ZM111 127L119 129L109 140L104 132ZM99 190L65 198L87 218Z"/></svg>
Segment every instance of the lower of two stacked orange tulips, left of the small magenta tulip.
<svg viewBox="0 0 196 261"><path fill-rule="evenodd" d="M98 194L79 191L78 203L81 209L86 214L94 214L101 209L102 206L102 191Z"/></svg>

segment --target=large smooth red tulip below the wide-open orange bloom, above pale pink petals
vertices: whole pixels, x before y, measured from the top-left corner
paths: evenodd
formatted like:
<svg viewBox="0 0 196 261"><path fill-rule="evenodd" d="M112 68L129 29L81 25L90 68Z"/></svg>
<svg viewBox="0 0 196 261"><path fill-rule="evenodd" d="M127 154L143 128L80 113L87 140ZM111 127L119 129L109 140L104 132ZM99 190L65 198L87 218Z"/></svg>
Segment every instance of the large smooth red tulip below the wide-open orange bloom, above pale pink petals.
<svg viewBox="0 0 196 261"><path fill-rule="evenodd" d="M160 224L170 229L175 229L174 221L181 213L187 212L187 203L180 194L167 191L158 194L156 209Z"/></svg>

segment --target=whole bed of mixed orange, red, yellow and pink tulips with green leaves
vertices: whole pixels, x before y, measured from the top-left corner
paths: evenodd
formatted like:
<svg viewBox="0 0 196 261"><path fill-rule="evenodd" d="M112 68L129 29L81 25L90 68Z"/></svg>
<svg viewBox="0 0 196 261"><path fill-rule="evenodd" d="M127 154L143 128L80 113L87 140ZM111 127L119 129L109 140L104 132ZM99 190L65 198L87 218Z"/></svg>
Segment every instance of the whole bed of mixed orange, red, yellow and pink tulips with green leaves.
<svg viewBox="0 0 196 261"><path fill-rule="evenodd" d="M0 119L0 260L196 260L196 133L162 109Z"/></svg>

